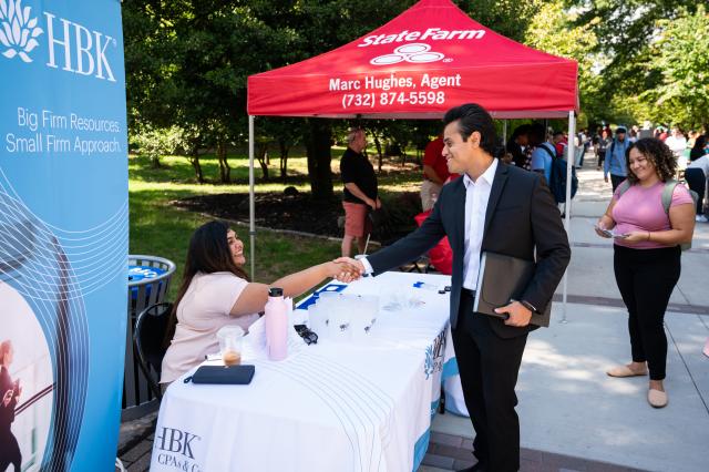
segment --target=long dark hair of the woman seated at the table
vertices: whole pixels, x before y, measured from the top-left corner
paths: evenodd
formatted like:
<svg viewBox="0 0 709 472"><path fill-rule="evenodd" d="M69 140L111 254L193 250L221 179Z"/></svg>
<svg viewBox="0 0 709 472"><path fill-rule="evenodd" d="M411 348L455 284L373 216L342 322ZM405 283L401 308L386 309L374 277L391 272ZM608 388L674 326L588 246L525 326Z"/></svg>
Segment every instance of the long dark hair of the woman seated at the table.
<svg viewBox="0 0 709 472"><path fill-rule="evenodd" d="M175 335L175 326L177 325L177 306L185 296L193 277L197 273L232 273L237 277L249 280L244 269L234 264L229 244L227 243L227 232L229 225L225 222L214 220L199 226L189 239L187 249L187 258L185 259L185 269L182 276L182 284L177 290L177 298L173 305L173 311L169 315L167 330L165 331L164 345L169 342Z"/></svg>

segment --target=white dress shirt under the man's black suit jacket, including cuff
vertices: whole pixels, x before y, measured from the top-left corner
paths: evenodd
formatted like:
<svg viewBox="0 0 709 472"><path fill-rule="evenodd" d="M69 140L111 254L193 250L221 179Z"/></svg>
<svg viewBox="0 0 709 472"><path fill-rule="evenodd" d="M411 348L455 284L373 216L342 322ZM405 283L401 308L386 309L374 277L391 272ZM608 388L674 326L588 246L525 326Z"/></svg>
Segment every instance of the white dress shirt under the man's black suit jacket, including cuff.
<svg viewBox="0 0 709 472"><path fill-rule="evenodd" d="M492 182L497 171L497 160L483 174L473 182L467 174L463 174L465 185L465 255L463 256L463 288L475 290L477 288L477 273L480 273L480 248L483 243L485 228L485 213L490 201ZM364 274L373 271L367 257L360 259L364 266Z"/></svg>

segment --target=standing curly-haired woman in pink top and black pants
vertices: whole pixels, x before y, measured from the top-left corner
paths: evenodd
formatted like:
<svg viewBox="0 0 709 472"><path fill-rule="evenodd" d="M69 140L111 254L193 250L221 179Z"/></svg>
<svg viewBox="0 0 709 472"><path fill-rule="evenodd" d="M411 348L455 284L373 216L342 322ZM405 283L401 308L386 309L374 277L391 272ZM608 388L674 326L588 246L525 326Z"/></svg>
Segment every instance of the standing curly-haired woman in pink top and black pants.
<svg viewBox="0 0 709 472"><path fill-rule="evenodd" d="M679 280L679 245L690 242L695 230L695 205L687 188L677 184L665 212L662 191L672 185L677 157L661 141L643 138L631 144L626 167L630 185L625 192L625 184L618 186L596 233L610 237L604 229L614 229L614 270L628 308L633 361L607 373L633 377L649 370L647 400L662 408L667 404L665 310Z"/></svg>

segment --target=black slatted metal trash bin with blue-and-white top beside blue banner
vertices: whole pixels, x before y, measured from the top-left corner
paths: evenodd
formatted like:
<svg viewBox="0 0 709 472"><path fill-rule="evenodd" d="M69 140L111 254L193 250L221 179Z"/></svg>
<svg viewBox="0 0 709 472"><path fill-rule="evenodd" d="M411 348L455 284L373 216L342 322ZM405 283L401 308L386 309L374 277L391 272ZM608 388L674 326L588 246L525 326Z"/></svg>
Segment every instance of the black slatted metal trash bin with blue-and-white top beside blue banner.
<svg viewBox="0 0 709 472"><path fill-rule="evenodd" d="M153 304L164 301L175 273L172 260L143 255L129 255L127 329L121 418L132 420L156 407L133 347L133 329L137 315Z"/></svg>

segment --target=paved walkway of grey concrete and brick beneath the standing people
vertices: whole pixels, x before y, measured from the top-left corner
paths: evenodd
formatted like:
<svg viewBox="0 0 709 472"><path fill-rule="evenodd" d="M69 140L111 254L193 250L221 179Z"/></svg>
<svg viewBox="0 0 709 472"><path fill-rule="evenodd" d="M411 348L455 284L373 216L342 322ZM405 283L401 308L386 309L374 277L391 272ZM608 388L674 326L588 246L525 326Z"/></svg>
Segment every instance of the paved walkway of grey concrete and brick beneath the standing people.
<svg viewBox="0 0 709 472"><path fill-rule="evenodd" d="M605 374L629 360L629 340L613 247L593 230L610 184L590 164L578 172L572 208L568 322L559 322L564 307L557 301L552 326L530 336L520 372L522 471L707 471L709 358L701 348L709 337L709 224L697 224L693 247L682 255L682 275L666 316L669 404L655 410L646 401L647 378ZM562 291L559 286L559 301ZM432 430L421 472L473 464L469 419L439 414ZM129 445L121 454L127 470L147 470L152 437Z"/></svg>

